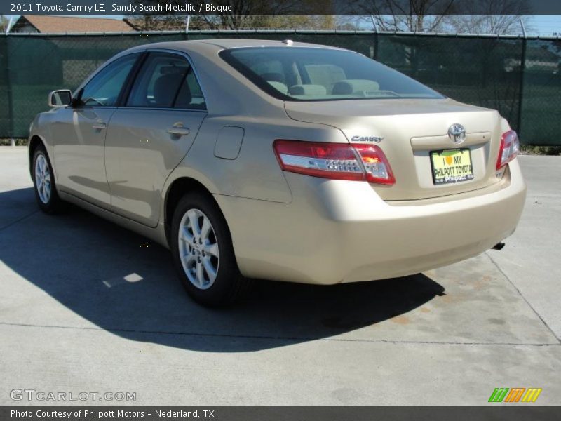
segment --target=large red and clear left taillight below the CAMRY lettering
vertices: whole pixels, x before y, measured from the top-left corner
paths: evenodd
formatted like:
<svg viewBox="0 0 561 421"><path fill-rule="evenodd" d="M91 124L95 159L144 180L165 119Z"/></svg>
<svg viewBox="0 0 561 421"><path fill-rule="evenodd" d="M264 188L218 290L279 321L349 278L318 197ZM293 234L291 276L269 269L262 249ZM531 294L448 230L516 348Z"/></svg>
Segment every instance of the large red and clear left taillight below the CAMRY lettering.
<svg viewBox="0 0 561 421"><path fill-rule="evenodd" d="M376 145L275 140L284 171L336 180L356 180L393 185L396 180L388 160Z"/></svg>

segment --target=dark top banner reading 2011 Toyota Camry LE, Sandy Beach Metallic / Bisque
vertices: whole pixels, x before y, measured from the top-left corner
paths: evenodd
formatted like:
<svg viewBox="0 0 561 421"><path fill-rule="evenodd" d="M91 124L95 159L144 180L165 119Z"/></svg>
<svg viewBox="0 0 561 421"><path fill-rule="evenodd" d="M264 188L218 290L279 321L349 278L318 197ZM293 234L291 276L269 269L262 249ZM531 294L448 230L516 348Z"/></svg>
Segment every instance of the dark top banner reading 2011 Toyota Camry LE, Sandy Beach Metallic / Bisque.
<svg viewBox="0 0 561 421"><path fill-rule="evenodd" d="M561 15L559 0L2 0L0 15Z"/></svg>

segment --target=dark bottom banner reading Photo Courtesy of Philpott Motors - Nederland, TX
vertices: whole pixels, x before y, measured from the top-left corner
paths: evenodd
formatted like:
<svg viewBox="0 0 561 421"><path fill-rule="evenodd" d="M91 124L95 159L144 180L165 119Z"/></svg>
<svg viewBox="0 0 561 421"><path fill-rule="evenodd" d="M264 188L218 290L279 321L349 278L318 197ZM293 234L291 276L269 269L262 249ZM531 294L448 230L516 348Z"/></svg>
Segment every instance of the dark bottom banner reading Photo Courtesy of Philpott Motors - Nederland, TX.
<svg viewBox="0 0 561 421"><path fill-rule="evenodd" d="M0 407L2 421L553 421L560 407L499 403L481 407Z"/></svg>

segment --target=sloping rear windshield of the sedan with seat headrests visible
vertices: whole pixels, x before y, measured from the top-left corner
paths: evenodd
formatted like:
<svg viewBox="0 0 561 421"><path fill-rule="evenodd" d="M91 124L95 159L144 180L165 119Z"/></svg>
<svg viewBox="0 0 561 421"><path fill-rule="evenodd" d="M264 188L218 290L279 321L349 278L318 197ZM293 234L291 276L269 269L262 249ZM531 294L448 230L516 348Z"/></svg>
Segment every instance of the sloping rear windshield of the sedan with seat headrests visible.
<svg viewBox="0 0 561 421"><path fill-rule="evenodd" d="M266 46L230 48L220 56L281 100L444 98L405 74L352 51Z"/></svg>

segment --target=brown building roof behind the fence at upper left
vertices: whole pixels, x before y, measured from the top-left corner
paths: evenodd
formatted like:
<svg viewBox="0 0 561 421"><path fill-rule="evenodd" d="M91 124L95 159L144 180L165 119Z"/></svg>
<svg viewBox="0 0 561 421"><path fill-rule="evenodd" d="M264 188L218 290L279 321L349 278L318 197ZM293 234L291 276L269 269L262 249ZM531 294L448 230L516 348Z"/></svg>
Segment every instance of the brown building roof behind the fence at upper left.
<svg viewBox="0 0 561 421"><path fill-rule="evenodd" d="M24 15L25 19L43 33L132 32L135 29L119 19L74 18L74 16ZM15 25L14 25L15 26Z"/></svg>

